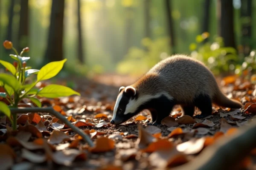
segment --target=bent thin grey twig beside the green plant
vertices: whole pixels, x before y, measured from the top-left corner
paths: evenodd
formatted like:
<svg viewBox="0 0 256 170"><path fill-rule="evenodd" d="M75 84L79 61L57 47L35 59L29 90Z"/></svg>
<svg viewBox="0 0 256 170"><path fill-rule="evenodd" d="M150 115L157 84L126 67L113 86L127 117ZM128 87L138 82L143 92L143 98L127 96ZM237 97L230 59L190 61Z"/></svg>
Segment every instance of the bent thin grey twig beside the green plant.
<svg viewBox="0 0 256 170"><path fill-rule="evenodd" d="M93 141L90 139L90 137L86 133L84 133L83 130L81 130L78 127L71 124L70 121L68 121L64 116L62 116L60 113L58 113L57 111L55 111L51 107L48 107L48 108L10 108L10 110L11 110L11 113L35 113L35 112L50 113L51 115L57 117L62 122L64 122L74 132L78 133L84 139L84 141L87 142L90 145L90 147L94 146Z"/></svg>

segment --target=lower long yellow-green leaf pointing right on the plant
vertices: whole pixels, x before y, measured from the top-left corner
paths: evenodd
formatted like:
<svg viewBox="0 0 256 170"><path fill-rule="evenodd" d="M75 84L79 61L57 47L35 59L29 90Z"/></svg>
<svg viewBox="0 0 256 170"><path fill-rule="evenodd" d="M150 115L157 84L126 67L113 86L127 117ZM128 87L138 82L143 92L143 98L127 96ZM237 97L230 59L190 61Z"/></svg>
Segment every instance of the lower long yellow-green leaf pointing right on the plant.
<svg viewBox="0 0 256 170"><path fill-rule="evenodd" d="M73 94L80 96L78 92L63 85L47 85L38 92L38 96L48 98L64 97Z"/></svg>

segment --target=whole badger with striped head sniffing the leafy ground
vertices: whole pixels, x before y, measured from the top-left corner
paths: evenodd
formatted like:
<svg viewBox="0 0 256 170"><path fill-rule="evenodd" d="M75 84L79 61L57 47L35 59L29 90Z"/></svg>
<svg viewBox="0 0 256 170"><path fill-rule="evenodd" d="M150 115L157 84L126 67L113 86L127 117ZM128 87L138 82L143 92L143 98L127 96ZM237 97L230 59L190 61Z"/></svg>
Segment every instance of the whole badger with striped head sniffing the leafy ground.
<svg viewBox="0 0 256 170"><path fill-rule="evenodd" d="M228 99L218 87L212 72L200 61L176 54L158 62L134 84L120 87L111 124L119 125L141 111L151 113L150 125L161 124L175 105L183 114L196 118L212 114L212 103L225 108L241 108L239 101Z"/></svg>

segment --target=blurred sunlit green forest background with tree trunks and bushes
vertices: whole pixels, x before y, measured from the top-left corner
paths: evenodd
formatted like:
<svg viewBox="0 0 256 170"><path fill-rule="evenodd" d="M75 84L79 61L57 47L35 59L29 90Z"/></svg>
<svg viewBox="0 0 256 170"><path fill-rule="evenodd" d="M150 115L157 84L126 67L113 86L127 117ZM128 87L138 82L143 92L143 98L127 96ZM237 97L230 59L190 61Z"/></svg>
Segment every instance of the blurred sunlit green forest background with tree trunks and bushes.
<svg viewBox="0 0 256 170"><path fill-rule="evenodd" d="M38 68L67 58L70 74L138 76L176 53L216 75L241 74L256 69L255 7L255 0L0 0L0 41L29 46ZM8 54L0 48L0 59Z"/></svg>

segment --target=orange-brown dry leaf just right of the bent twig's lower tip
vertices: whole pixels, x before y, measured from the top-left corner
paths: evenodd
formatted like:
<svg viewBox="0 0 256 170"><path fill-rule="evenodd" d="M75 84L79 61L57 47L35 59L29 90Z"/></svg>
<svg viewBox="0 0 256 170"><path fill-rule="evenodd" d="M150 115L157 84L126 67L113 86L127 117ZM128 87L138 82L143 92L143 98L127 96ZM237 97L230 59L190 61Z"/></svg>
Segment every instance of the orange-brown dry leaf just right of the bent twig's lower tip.
<svg viewBox="0 0 256 170"><path fill-rule="evenodd" d="M112 139L101 137L96 140L95 147L90 147L89 150L92 153L108 152L113 150L115 142Z"/></svg>

